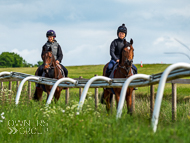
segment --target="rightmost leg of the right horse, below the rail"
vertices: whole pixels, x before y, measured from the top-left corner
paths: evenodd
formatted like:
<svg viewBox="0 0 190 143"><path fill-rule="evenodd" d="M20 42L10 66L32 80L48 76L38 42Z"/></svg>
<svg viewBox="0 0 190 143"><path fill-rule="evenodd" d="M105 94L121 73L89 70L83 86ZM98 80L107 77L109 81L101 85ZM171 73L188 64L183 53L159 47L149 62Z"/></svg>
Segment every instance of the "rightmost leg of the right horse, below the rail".
<svg viewBox="0 0 190 143"><path fill-rule="evenodd" d="M132 93L133 88L128 88L126 93L127 113L132 115Z"/></svg>

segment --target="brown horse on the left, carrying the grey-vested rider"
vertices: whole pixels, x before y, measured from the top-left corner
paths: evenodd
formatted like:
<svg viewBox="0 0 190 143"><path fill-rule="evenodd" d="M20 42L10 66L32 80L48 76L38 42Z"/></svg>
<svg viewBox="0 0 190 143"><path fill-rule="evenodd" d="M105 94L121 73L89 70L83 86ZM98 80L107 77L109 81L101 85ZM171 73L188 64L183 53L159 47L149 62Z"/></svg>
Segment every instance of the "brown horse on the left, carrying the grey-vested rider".
<svg viewBox="0 0 190 143"><path fill-rule="evenodd" d="M47 51L45 48L43 48L42 59L44 62L43 75L45 75L45 77L54 78L54 79L64 78L64 75L62 75L61 70L60 70L60 65L56 64L51 47ZM35 76L38 76L38 71L39 71L39 68L36 70ZM37 101L41 101L42 93L44 90L45 92L47 92L47 99L48 99L51 88L52 86L49 86L49 85L40 85L40 87L36 87L33 99ZM56 88L55 94L54 94L55 102L59 100L62 89L63 89L62 87Z"/></svg>

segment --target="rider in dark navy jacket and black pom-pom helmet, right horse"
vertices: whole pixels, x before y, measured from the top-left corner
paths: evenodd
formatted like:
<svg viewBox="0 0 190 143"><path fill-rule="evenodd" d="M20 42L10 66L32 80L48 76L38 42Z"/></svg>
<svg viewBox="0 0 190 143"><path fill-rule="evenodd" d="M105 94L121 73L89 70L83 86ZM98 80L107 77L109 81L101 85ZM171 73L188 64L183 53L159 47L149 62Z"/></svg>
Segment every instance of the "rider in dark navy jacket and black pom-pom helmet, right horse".
<svg viewBox="0 0 190 143"><path fill-rule="evenodd" d="M109 76L114 65L116 63L119 63L119 59L121 57L121 51L124 47L124 43L126 42L125 37L127 36L127 28L125 27L125 24L122 24L117 29L117 36L118 38L113 40L110 45L110 55L111 60L108 64L107 70L106 70L106 76ZM137 68L135 65L132 65L132 69L134 71L134 74L137 74Z"/></svg>

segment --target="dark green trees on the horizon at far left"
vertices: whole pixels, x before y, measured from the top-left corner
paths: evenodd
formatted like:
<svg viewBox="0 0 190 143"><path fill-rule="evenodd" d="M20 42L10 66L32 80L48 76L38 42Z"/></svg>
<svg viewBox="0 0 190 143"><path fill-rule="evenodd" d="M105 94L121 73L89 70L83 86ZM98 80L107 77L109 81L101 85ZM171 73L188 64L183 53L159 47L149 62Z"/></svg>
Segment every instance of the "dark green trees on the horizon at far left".
<svg viewBox="0 0 190 143"><path fill-rule="evenodd" d="M38 61L37 64L27 63L20 55L14 52L3 52L0 55L0 68L7 67L39 67L43 62Z"/></svg>

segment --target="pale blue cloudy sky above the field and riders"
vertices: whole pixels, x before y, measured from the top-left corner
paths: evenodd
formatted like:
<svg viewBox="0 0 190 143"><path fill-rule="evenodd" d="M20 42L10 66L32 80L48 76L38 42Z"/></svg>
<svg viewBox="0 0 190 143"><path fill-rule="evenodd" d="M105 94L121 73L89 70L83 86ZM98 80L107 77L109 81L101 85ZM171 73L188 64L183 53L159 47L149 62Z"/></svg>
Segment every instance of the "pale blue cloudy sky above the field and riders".
<svg viewBox="0 0 190 143"><path fill-rule="evenodd" d="M124 23L135 64L189 63L185 55L165 54L190 56L189 7L189 0L0 0L0 53L15 52L36 64L52 29L63 65L106 64Z"/></svg>

